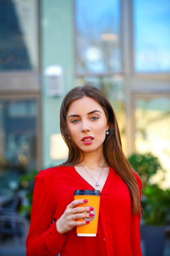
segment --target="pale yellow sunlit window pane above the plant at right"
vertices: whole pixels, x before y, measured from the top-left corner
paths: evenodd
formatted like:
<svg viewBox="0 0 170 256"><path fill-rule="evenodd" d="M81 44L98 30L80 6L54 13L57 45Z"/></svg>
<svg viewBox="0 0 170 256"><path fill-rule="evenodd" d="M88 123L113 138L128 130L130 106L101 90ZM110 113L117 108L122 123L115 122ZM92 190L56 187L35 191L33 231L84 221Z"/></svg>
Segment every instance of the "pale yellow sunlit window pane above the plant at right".
<svg viewBox="0 0 170 256"><path fill-rule="evenodd" d="M152 152L165 170L170 166L170 98L137 99L135 108L137 152ZM168 177L169 176L169 177ZM170 185L170 172L162 184Z"/></svg>

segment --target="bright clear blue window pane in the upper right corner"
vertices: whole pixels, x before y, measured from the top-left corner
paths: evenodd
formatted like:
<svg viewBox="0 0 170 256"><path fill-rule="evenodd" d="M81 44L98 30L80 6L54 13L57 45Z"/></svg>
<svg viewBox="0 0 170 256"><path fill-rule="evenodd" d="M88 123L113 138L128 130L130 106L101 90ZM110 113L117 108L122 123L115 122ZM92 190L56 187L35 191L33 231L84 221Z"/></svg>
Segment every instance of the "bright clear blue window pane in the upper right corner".
<svg viewBox="0 0 170 256"><path fill-rule="evenodd" d="M170 1L133 3L135 71L170 71Z"/></svg>

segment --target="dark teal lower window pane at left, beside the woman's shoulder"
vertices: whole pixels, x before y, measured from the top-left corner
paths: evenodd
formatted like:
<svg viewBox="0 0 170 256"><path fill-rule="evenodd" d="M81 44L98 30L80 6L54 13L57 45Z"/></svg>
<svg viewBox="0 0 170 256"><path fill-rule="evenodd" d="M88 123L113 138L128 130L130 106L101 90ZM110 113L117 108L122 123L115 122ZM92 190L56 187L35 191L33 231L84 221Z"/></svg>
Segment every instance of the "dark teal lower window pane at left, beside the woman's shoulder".
<svg viewBox="0 0 170 256"><path fill-rule="evenodd" d="M0 187L15 190L37 167L36 100L0 100Z"/></svg>

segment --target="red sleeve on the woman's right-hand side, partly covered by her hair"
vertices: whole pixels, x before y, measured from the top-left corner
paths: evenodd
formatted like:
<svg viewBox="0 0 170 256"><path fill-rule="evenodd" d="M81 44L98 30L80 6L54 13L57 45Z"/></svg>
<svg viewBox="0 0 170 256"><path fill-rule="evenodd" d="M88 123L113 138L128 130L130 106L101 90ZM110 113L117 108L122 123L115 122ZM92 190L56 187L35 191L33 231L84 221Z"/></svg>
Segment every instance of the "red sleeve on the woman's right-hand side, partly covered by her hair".
<svg viewBox="0 0 170 256"><path fill-rule="evenodd" d="M140 193L140 200L141 200L141 187L142 182L139 177L135 174L138 186L139 186L139 193ZM141 211L139 214L133 215L131 213L131 249L133 256L142 256L141 252L141 241L140 241L140 220L141 220Z"/></svg>

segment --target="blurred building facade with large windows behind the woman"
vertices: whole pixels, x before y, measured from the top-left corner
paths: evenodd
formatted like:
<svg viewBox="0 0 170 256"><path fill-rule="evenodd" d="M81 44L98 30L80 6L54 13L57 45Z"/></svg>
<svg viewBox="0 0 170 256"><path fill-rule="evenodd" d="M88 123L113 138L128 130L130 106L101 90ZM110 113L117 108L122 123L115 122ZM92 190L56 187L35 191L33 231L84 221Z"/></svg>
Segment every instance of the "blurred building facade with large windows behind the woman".
<svg viewBox="0 0 170 256"><path fill-rule="evenodd" d="M169 30L168 0L0 0L1 195L67 159L59 109L86 81L109 98L126 156L158 156L170 186Z"/></svg>

